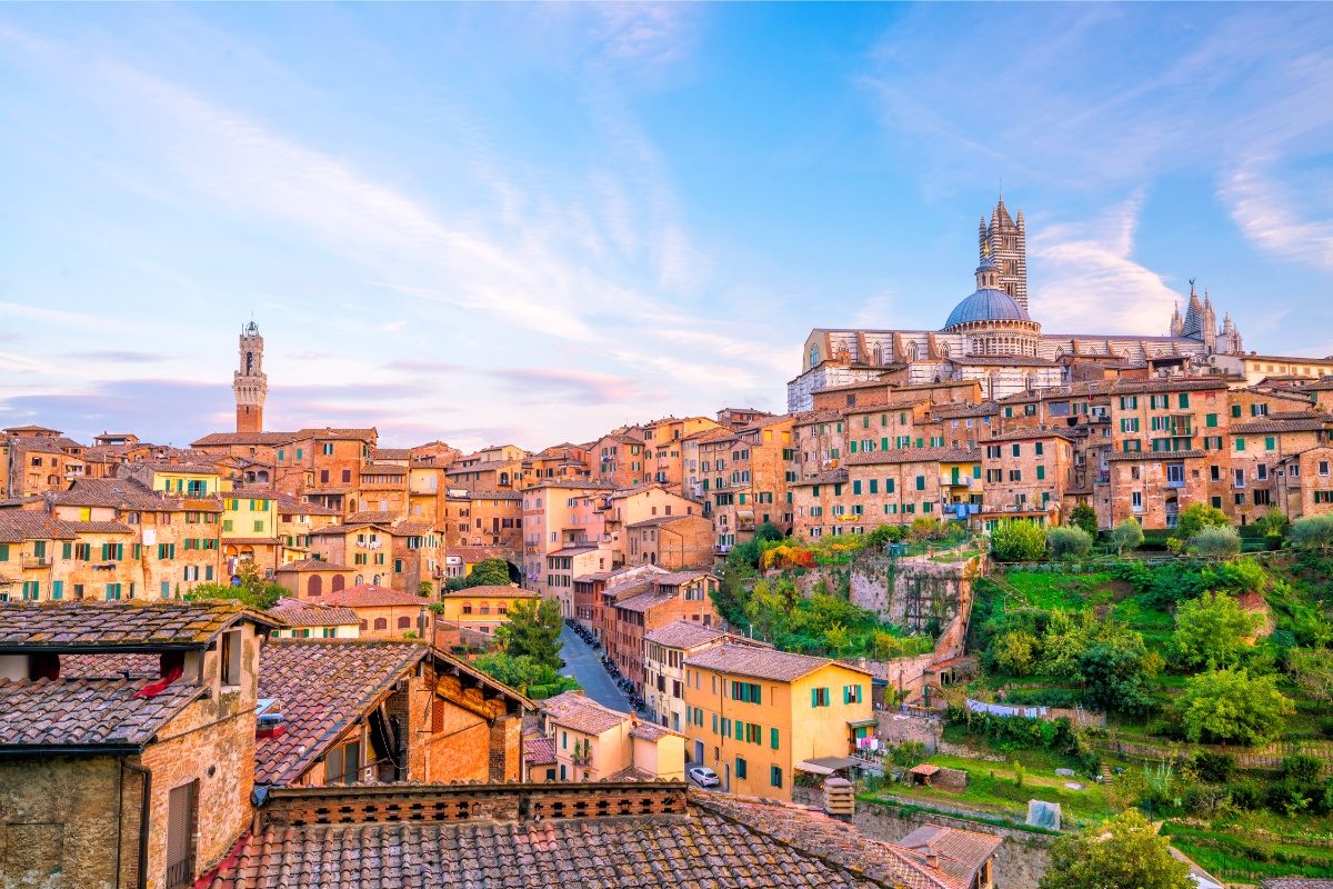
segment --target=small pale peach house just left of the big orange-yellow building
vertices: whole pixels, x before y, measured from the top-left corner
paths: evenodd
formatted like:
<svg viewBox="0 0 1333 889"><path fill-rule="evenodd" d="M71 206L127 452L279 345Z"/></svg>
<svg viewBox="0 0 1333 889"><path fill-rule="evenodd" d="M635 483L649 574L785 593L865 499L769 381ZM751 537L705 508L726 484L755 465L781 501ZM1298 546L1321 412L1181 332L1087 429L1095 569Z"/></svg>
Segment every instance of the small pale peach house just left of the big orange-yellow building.
<svg viewBox="0 0 1333 889"><path fill-rule="evenodd" d="M556 781L681 781L685 777L685 736L661 725L640 722L593 701L583 692L565 692L541 704L555 762L545 757L528 773L555 774ZM551 748L545 748L549 753ZM536 765L536 764L531 764ZM547 780L552 780L547 777Z"/></svg>

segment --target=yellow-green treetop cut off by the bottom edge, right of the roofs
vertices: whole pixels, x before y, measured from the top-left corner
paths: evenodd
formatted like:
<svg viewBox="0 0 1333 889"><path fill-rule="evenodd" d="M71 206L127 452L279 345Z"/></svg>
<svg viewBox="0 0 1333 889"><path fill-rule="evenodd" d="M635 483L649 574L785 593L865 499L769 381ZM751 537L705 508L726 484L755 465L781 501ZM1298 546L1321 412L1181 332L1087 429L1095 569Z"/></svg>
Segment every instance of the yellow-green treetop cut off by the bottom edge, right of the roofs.
<svg viewBox="0 0 1333 889"><path fill-rule="evenodd" d="M1065 834L1050 849L1040 889L1193 889L1189 865L1176 861L1166 837L1138 810L1101 829Z"/></svg>

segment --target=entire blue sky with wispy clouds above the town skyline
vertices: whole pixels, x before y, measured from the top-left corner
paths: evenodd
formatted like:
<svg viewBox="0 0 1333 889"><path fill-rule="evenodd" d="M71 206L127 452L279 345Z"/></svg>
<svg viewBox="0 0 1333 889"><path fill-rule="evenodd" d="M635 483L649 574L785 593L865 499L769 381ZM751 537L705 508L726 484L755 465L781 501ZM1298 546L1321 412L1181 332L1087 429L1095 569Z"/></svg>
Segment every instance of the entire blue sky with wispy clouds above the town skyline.
<svg viewBox="0 0 1333 889"><path fill-rule="evenodd" d="M1001 180L1046 331L1333 353L1324 5L7 5L0 96L0 425L225 429L252 315L276 429L781 409Z"/></svg>

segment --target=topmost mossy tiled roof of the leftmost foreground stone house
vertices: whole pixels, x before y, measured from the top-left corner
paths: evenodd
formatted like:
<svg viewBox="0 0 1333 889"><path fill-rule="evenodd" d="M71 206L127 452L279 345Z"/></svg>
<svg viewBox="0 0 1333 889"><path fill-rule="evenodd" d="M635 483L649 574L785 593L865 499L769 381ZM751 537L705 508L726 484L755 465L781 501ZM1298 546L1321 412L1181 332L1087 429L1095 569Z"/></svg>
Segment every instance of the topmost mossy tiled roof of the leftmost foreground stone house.
<svg viewBox="0 0 1333 889"><path fill-rule="evenodd" d="M236 602L11 602L0 605L0 652L204 648L243 618L276 625Z"/></svg>

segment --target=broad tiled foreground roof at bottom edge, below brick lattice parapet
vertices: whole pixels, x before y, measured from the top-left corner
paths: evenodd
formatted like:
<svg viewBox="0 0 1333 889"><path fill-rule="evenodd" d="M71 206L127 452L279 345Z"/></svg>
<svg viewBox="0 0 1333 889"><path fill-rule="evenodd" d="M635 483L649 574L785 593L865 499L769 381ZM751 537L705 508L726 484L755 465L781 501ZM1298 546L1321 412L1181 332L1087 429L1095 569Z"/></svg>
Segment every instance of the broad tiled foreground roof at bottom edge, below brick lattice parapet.
<svg viewBox="0 0 1333 889"><path fill-rule="evenodd" d="M585 794L616 785L589 784ZM368 801L365 788L328 789L329 805ZM448 790L443 788L441 790ZM505 786L477 793L513 794ZM531 788L528 793L541 793ZM432 796L421 789L429 809ZM483 802L483 805L487 805ZM517 800L493 806L519 812ZM368 870L369 869L369 870ZM211 889L960 889L893 846L810 809L698 797L684 814L544 817L465 822L271 824L247 834Z"/></svg>

